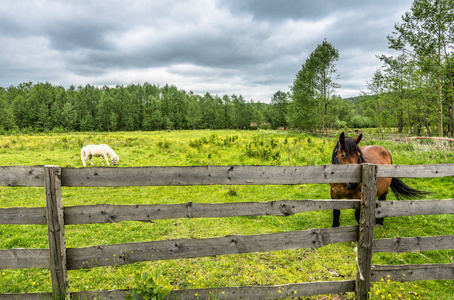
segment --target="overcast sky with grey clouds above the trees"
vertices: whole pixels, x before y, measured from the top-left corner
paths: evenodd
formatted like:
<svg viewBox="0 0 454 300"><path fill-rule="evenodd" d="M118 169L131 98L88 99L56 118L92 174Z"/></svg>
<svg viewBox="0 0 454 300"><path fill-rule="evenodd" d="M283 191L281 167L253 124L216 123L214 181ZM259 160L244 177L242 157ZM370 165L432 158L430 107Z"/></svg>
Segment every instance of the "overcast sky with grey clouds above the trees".
<svg viewBox="0 0 454 300"><path fill-rule="evenodd" d="M173 84L269 102L324 39L342 97L396 55L386 36L412 0L2 0L0 86Z"/></svg>

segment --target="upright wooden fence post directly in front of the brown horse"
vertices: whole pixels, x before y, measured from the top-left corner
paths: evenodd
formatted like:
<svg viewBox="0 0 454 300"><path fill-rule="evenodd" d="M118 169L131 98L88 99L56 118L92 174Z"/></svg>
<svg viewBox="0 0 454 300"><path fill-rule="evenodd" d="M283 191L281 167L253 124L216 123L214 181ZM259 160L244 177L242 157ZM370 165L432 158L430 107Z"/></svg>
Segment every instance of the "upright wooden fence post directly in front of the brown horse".
<svg viewBox="0 0 454 300"><path fill-rule="evenodd" d="M356 254L358 264L356 268L356 295L358 300L369 299L376 197L377 165L363 164L361 168L361 208Z"/></svg>

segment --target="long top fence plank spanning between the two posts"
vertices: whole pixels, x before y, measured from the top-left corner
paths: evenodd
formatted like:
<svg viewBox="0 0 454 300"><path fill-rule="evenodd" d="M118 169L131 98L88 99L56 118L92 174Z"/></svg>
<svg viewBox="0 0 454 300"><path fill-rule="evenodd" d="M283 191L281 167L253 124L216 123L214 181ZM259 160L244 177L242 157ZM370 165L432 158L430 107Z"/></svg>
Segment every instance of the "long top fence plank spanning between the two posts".
<svg viewBox="0 0 454 300"><path fill-rule="evenodd" d="M63 168L63 186L261 185L359 182L359 165Z"/></svg>

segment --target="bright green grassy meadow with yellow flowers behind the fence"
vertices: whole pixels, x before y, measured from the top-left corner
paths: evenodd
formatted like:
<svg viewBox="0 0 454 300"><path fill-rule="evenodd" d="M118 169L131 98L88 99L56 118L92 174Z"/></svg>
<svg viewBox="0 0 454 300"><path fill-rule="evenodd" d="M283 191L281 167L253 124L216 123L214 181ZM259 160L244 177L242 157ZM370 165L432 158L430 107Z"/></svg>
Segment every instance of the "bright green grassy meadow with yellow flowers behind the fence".
<svg viewBox="0 0 454 300"><path fill-rule="evenodd" d="M349 133L357 135L357 133ZM324 165L329 164L335 137L292 131L156 131L115 133L48 133L0 137L0 165L58 165L82 167L80 149L86 144L108 144L120 156L116 167L201 165ZM364 134L362 145L379 144L395 164L452 163L451 144L430 140L385 140ZM100 158L93 158L96 166ZM453 178L404 179L430 191L426 199L452 198ZM89 204L174 204L183 202L242 202L292 199L329 199L329 185L295 186L186 186L63 188L65 206ZM394 200L392 193L388 199ZM43 207L44 188L0 187L0 207ZM153 222L70 225L67 247L141 242L174 238L207 238L229 234L275 233L328 228L331 211L289 217L172 219ZM341 226L355 225L354 212L343 211ZM375 238L454 234L454 216L395 217L376 227ZM0 249L47 248L47 228L38 225L0 225ZM280 285L292 282L350 280L356 277L355 243L320 249L264 252L126 266L69 271L72 291L134 289L143 284L136 275L150 276L167 289L244 285ZM374 264L453 263L454 250L402 254L374 254ZM45 269L1 270L0 293L50 292ZM140 277L143 278L143 277ZM391 279L373 283L372 299L450 299L453 282L447 280L400 283ZM297 296L297 295L295 295ZM353 293L340 295L353 299ZM307 299L316 299L311 297ZM297 298L298 299L298 298ZM306 298L304 298L306 299Z"/></svg>

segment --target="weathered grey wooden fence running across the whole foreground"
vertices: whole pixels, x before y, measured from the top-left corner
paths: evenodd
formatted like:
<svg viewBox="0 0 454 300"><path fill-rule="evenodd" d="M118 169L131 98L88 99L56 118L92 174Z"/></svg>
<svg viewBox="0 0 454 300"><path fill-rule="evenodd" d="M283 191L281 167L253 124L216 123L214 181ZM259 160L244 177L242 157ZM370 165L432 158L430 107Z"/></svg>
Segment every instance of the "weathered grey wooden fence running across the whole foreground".
<svg viewBox="0 0 454 300"><path fill-rule="evenodd" d="M366 299L371 281L387 275L399 281L454 279L454 264L372 265L375 252L454 249L454 236L374 240L375 217L454 214L454 199L377 201L377 177L454 176L454 165L325 165L325 166L203 166L137 168L0 167L1 186L44 186L46 207L2 208L0 224L48 226L49 249L0 250L0 269L47 268L52 293L0 294L0 299L123 299L128 291L69 291L67 270L123 265L141 261L228 255L261 251L317 248L357 241L357 279L292 283L279 286L175 290L170 299L276 299L356 291ZM362 183L361 200L286 200L251 203L173 205L93 205L63 207L61 187L298 185ZM229 235L206 239L173 239L86 248L66 248L65 225L149 221L168 218L289 216L325 209L361 210L359 225L278 234ZM113 259L115 258L115 259ZM403 276L402 274L405 274ZM223 294L216 294L217 291Z"/></svg>

